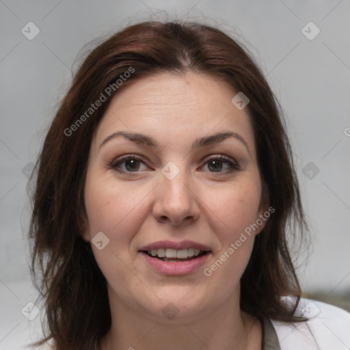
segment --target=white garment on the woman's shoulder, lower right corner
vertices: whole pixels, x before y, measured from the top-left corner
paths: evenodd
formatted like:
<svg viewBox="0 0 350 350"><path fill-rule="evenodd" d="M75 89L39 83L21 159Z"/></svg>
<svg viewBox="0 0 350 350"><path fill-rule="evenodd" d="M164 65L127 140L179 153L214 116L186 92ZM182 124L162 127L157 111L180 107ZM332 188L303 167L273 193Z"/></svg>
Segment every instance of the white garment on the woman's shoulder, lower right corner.
<svg viewBox="0 0 350 350"><path fill-rule="evenodd" d="M284 297L293 304L293 297ZM321 301L301 298L296 314L308 317L301 323L271 320L281 350L337 349L350 347L350 313Z"/></svg>

